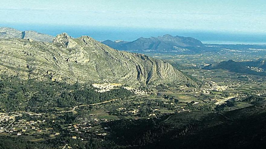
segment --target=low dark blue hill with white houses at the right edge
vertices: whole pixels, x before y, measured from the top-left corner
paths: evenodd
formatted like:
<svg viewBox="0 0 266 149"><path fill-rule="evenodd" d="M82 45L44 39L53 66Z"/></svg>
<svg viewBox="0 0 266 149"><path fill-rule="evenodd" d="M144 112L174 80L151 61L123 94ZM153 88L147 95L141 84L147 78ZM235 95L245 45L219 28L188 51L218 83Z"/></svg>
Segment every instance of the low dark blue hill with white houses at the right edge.
<svg viewBox="0 0 266 149"><path fill-rule="evenodd" d="M236 62L232 60L222 61L220 63L210 64L209 66L203 67L202 69L206 70L223 69L236 73L266 76L265 73L266 64L265 60L262 59L256 61L241 61L241 62Z"/></svg>

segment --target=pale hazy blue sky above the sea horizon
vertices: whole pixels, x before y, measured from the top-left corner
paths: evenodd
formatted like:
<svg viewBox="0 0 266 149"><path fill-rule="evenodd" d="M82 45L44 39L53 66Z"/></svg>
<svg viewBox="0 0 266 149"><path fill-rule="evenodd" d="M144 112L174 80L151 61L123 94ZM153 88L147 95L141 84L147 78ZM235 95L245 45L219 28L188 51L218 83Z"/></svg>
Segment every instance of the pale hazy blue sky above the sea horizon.
<svg viewBox="0 0 266 149"><path fill-rule="evenodd" d="M1 0L0 24L266 33L265 0Z"/></svg>

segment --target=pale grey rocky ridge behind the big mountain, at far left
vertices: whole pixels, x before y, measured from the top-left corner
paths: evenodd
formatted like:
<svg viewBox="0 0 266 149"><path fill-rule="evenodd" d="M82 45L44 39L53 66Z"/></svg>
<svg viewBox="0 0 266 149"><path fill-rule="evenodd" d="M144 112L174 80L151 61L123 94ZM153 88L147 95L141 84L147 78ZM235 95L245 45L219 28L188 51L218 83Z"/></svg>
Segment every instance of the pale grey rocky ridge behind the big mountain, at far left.
<svg viewBox="0 0 266 149"><path fill-rule="evenodd" d="M47 34L37 33L35 31L19 31L9 27L0 27L0 39L1 38L32 39L40 42L52 42L54 37Z"/></svg>

